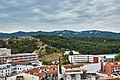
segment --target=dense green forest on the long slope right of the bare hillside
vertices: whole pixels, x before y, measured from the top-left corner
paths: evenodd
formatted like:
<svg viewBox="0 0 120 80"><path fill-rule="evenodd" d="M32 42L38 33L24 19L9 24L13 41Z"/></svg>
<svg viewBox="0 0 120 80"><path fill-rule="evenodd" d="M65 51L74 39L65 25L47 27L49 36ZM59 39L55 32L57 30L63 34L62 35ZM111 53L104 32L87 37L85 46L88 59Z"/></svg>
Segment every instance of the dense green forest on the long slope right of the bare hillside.
<svg viewBox="0 0 120 80"><path fill-rule="evenodd" d="M120 40L94 37L61 37L38 35L42 42L59 48L79 51L81 54L113 54L120 52Z"/></svg>

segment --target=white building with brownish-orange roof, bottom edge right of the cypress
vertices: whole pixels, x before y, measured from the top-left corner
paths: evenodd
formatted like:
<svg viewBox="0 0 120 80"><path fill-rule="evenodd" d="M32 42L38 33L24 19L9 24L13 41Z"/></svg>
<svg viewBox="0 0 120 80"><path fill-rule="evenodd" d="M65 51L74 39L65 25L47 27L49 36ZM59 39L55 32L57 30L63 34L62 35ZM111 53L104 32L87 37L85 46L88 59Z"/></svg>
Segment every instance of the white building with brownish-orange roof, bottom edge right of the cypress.
<svg viewBox="0 0 120 80"><path fill-rule="evenodd" d="M64 80L97 80L96 73L88 72L80 65L66 65L62 67Z"/></svg>

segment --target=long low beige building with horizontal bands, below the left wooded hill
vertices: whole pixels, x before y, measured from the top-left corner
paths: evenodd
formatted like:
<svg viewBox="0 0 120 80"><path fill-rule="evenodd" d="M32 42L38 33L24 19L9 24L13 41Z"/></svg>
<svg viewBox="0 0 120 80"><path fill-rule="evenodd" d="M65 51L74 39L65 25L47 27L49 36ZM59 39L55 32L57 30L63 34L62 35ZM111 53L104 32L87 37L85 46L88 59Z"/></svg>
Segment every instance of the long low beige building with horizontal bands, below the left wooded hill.
<svg viewBox="0 0 120 80"><path fill-rule="evenodd" d="M35 62L37 61L37 56L35 53L22 53L22 54L0 56L0 64L14 62L14 61Z"/></svg>

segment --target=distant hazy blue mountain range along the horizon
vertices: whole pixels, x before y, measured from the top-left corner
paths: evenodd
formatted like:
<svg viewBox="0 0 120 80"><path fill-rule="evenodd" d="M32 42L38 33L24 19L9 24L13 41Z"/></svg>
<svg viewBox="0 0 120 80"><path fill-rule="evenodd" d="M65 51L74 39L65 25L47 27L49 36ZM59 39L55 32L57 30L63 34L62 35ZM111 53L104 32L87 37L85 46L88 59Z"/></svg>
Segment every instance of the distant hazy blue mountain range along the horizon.
<svg viewBox="0 0 120 80"><path fill-rule="evenodd" d="M52 32L15 32L11 34L0 33L0 38L11 38L11 37L20 37L20 36L36 36L39 34L49 34L49 35L58 35L64 37L97 37L97 38L112 38L112 39L120 39L120 33L108 32L108 31L98 31L98 30L89 30L89 31L71 31L71 30L63 30L63 31L52 31Z"/></svg>

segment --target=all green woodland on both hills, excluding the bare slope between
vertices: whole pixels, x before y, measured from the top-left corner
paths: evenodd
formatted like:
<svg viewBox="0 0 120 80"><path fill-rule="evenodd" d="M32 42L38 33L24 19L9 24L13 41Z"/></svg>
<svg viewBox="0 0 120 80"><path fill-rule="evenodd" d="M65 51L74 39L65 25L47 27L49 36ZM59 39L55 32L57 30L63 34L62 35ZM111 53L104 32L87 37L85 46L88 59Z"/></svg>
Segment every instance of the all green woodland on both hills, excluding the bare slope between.
<svg viewBox="0 0 120 80"><path fill-rule="evenodd" d="M37 49L39 41L55 47L60 51L75 50L81 54L113 54L120 52L119 39L106 39L94 37L62 37L56 35L38 35L31 39L13 38L6 44L0 41L0 47L12 49L12 53L33 52ZM50 51L49 48L46 51ZM56 51L56 50L54 50ZM54 52L53 50L51 52ZM49 52L49 53L51 53Z"/></svg>

